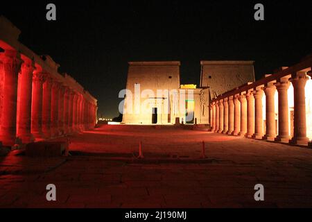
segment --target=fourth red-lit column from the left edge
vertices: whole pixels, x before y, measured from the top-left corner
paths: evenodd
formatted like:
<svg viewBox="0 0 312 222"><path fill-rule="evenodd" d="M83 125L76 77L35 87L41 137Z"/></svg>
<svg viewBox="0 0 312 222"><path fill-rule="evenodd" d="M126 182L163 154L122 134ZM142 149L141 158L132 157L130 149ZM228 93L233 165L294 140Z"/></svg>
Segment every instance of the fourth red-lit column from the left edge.
<svg viewBox="0 0 312 222"><path fill-rule="evenodd" d="M44 138L51 137L51 96L52 96L52 78L46 74L46 81L43 85L42 97L42 132Z"/></svg>

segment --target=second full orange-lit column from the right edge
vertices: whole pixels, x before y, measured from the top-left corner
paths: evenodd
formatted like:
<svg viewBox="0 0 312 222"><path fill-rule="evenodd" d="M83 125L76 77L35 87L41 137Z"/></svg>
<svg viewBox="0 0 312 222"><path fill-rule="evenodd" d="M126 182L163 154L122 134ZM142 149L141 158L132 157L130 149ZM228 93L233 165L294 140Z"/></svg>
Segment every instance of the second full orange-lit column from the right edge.
<svg viewBox="0 0 312 222"><path fill-rule="evenodd" d="M288 94L287 90L291 85L288 79L281 79L278 83L275 83L277 93L279 96L279 133L275 138L276 142L288 143L289 135L289 114L288 114Z"/></svg>

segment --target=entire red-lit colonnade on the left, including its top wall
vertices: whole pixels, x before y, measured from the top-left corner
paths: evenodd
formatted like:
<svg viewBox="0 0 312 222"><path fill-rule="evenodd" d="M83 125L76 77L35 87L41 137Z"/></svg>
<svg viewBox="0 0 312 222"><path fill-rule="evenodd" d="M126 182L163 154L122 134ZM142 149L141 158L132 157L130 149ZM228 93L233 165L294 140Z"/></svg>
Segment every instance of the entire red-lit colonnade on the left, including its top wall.
<svg viewBox="0 0 312 222"><path fill-rule="evenodd" d="M94 128L97 101L50 56L18 41L0 17L0 142L3 146L62 137Z"/></svg>

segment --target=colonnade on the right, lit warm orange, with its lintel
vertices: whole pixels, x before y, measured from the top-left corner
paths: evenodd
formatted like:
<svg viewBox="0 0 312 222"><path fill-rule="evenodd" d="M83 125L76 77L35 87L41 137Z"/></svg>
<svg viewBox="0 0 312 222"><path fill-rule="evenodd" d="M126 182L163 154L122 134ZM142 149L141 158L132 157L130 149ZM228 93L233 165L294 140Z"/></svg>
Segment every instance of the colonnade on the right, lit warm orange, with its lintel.
<svg viewBox="0 0 312 222"><path fill-rule="evenodd" d="M254 83L245 84L212 99L211 131L268 141L308 145L305 85L311 76L311 57ZM298 67L300 69L298 70ZM304 69L302 69L305 67ZM293 136L291 137L288 87L293 85ZM278 119L275 121L275 92ZM265 96L265 104L263 104ZM263 106L266 107L263 121ZM264 125L265 124L265 125ZM266 126L266 130L264 130ZM278 126L278 127L277 127ZM278 130L277 130L278 128ZM309 146L311 143L309 143Z"/></svg>

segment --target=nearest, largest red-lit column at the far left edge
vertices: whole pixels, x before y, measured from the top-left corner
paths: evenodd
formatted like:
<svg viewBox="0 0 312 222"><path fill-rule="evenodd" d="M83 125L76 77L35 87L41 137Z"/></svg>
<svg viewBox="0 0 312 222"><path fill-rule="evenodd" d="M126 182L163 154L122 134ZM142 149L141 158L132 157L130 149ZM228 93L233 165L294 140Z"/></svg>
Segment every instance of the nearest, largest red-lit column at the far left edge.
<svg viewBox="0 0 312 222"><path fill-rule="evenodd" d="M0 53L0 60L4 75L0 140L3 145L12 146L16 139L17 80L22 61L16 51Z"/></svg>

